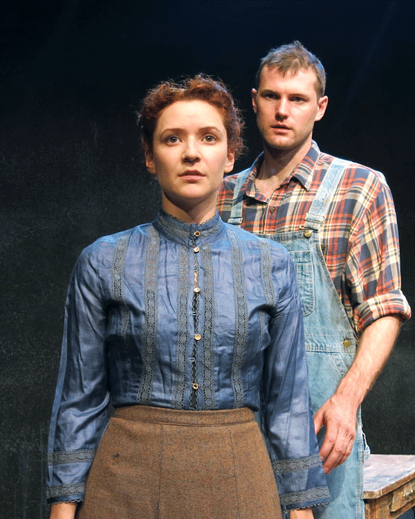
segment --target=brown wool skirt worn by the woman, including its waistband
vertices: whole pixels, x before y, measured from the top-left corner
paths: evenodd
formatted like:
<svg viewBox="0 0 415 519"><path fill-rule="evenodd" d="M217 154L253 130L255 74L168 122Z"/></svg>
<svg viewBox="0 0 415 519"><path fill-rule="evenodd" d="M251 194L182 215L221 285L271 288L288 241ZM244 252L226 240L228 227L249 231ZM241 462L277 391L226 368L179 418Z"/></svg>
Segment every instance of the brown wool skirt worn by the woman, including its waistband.
<svg viewBox="0 0 415 519"><path fill-rule="evenodd" d="M281 519L252 410L116 410L77 518Z"/></svg>

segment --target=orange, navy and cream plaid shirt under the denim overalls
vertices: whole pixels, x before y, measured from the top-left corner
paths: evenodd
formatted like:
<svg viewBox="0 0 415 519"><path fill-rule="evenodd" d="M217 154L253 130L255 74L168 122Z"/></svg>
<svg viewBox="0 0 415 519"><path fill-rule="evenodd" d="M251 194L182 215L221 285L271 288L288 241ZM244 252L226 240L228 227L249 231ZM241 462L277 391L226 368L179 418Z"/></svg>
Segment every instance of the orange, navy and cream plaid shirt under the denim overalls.
<svg viewBox="0 0 415 519"><path fill-rule="evenodd" d="M313 141L304 160L268 199L255 188L263 160L252 165L242 190L242 227L255 234L300 230L333 156ZM219 190L218 209L228 221L237 175L227 176ZM344 172L320 229L327 268L356 336L374 320L411 316L400 290L398 228L391 192L384 176L359 164Z"/></svg>

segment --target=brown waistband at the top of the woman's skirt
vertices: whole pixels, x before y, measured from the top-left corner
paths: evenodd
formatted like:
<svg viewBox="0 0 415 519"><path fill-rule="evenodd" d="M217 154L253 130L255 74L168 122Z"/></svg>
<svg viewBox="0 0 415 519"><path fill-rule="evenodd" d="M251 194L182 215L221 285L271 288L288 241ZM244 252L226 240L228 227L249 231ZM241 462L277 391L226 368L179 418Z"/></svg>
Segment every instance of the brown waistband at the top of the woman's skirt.
<svg viewBox="0 0 415 519"><path fill-rule="evenodd" d="M250 408L183 411L149 406L125 406L117 408L113 417L133 421L199 427L225 426L255 420L254 412Z"/></svg>

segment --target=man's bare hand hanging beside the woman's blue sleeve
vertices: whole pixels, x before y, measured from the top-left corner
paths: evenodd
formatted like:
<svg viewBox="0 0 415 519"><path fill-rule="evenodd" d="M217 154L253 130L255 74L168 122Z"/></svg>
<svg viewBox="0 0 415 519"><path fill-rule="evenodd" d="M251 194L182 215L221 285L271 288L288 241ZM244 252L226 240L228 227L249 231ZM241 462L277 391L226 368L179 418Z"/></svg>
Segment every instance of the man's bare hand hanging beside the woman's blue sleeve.
<svg viewBox="0 0 415 519"><path fill-rule="evenodd" d="M322 426L326 426L326 434L320 448L320 457L326 474L342 464L351 453L356 437L357 412L358 410L349 402L342 401L338 395L333 394L333 397L315 413L315 434Z"/></svg>

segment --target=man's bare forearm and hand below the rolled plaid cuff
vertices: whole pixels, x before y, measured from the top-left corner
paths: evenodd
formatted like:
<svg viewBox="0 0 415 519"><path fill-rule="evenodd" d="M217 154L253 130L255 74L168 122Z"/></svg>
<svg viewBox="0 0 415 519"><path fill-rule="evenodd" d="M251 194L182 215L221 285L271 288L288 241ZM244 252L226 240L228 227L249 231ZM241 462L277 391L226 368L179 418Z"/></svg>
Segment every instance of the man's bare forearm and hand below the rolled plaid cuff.
<svg viewBox="0 0 415 519"><path fill-rule="evenodd" d="M372 322L363 331L349 371L333 397L315 413L315 432L326 426L320 448L326 474L342 464L351 453L356 437L358 408L394 349L401 324L398 316L386 316Z"/></svg>

